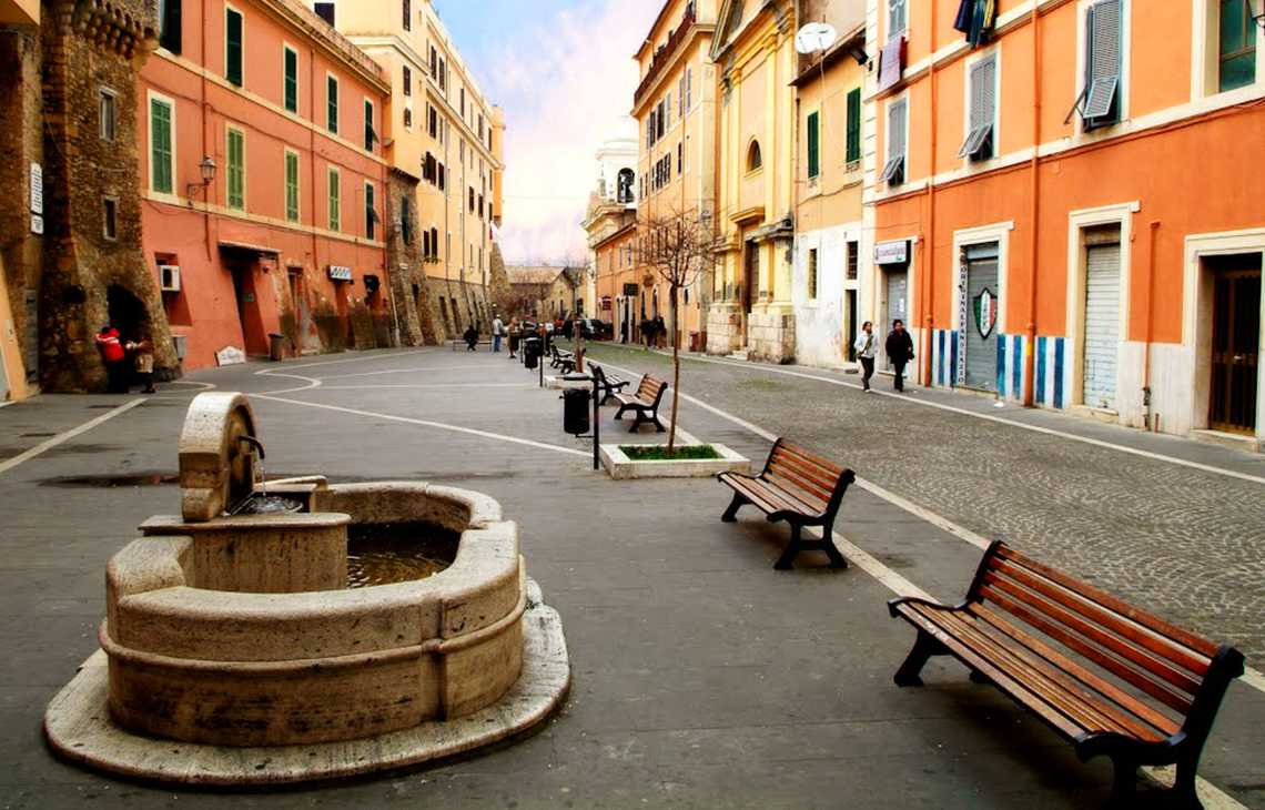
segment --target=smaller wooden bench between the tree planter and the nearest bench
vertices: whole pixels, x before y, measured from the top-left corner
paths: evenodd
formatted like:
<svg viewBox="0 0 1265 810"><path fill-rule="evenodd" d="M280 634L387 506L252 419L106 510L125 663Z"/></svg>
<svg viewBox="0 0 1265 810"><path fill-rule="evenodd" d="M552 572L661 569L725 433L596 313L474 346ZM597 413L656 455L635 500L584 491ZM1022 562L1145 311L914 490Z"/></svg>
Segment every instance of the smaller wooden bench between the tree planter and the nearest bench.
<svg viewBox="0 0 1265 810"><path fill-rule="evenodd" d="M760 475L722 472L717 478L734 490L734 500L721 516L725 523L737 520L737 510L750 504L764 511L769 521L786 520L791 524L791 543L774 568L789 571L802 551L826 552L831 568L848 567L848 561L831 538L839 505L844 501L848 485L856 480L851 470L832 464L782 438L773 444ZM821 539L805 540L805 526L821 526Z"/></svg>

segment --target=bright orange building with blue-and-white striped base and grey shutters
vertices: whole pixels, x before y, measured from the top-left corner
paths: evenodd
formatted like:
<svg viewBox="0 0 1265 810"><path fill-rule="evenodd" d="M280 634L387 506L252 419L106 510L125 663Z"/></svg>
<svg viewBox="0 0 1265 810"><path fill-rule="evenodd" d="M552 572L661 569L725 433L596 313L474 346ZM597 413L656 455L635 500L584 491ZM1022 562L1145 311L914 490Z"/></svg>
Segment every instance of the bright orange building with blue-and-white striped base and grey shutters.
<svg viewBox="0 0 1265 810"><path fill-rule="evenodd" d="M994 8L870 0L863 308L925 385L1259 446L1250 4Z"/></svg>

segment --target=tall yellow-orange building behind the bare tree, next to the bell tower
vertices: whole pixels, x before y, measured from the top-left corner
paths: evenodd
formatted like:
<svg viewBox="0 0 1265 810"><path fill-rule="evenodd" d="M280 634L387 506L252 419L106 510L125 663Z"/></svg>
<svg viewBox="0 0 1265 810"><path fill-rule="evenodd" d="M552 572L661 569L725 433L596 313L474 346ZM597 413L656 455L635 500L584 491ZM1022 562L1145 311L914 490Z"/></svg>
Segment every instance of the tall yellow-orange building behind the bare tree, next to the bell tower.
<svg viewBox="0 0 1265 810"><path fill-rule="evenodd" d="M708 51L717 0L668 0L636 52L641 77L632 97L638 122L638 218L670 218L716 210L716 78ZM636 295L619 290L614 308L632 323L670 318L669 286L650 268L636 268ZM706 337L711 268L681 300L682 346ZM670 324L669 324L670 329Z"/></svg>

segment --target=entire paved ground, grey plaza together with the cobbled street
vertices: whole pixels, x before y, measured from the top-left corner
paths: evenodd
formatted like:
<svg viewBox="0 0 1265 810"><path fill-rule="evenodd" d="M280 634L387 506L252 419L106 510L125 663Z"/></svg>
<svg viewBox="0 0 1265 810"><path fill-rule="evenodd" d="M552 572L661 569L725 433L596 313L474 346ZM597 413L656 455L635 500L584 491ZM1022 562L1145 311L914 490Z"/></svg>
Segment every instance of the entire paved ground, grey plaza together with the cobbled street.
<svg viewBox="0 0 1265 810"><path fill-rule="evenodd" d="M670 375L653 352L593 356ZM145 400L0 408L0 806L1102 806L1109 763L1079 763L960 664L934 659L923 688L892 683L913 630L885 600L907 587L956 600L978 544L1004 538L1247 653L1255 670L1230 690L1202 791L1208 807L1265 807L1259 457L942 392L863 395L829 371L687 359L691 434L753 459L786 434L863 480L836 524L853 566L808 552L777 572L784 525L754 510L722 524L730 492L713 480L593 472L591 448L562 430L559 392L536 381L505 354L397 349L199 372ZM505 751L285 792L145 786L54 759L44 706L97 648L105 562L140 521L178 511L180 429L210 387L250 395L268 477L424 480L500 500L562 615L563 710ZM612 413L606 442L622 439Z"/></svg>

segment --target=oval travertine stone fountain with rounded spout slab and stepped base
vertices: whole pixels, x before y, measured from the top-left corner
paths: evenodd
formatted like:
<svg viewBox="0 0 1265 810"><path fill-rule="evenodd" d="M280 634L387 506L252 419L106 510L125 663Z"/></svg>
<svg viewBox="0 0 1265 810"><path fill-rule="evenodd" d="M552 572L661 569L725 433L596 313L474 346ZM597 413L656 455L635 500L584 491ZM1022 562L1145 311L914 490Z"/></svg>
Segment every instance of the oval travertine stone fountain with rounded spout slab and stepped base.
<svg viewBox="0 0 1265 810"><path fill-rule="evenodd" d="M471 752L560 705L562 624L500 504L424 482L261 483L258 435L243 395L194 400L181 515L110 561L101 649L46 713L58 754L173 782L329 780ZM436 545L438 573L348 589L348 539L373 535L458 540Z"/></svg>

